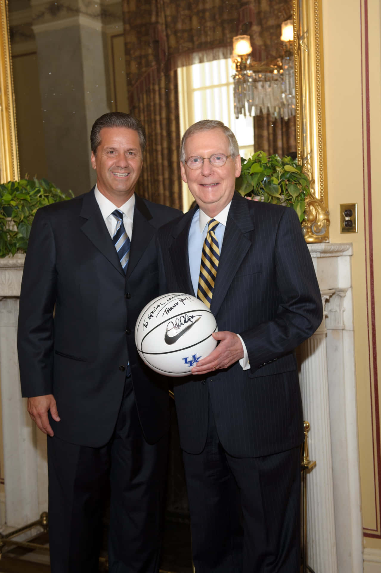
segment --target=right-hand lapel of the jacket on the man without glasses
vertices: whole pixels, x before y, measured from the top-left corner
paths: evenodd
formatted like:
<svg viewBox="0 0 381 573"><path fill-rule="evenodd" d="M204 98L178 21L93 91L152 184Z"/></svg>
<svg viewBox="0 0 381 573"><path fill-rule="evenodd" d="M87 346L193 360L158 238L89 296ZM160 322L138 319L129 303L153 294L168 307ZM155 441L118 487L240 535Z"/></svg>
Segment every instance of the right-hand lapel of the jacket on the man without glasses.
<svg viewBox="0 0 381 573"><path fill-rule="evenodd" d="M142 254L156 233L156 229L149 223L150 219L152 219L152 214L145 202L138 195L135 195L131 250L128 260L127 278L140 261Z"/></svg>

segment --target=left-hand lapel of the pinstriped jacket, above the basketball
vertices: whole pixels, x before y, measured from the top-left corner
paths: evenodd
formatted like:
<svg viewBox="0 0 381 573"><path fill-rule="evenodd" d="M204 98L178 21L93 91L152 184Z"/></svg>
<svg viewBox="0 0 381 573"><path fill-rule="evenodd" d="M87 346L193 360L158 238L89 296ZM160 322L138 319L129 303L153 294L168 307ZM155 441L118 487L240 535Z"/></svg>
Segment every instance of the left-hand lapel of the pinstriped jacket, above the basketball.
<svg viewBox="0 0 381 573"><path fill-rule="evenodd" d="M185 213L184 217L180 219L177 226L174 227L172 231L174 241L172 242L172 246L169 249L169 254L172 258L174 274L176 276L179 292L184 292L187 295L197 296L197 293L193 292L188 255L189 227L194 214L195 209Z"/></svg>

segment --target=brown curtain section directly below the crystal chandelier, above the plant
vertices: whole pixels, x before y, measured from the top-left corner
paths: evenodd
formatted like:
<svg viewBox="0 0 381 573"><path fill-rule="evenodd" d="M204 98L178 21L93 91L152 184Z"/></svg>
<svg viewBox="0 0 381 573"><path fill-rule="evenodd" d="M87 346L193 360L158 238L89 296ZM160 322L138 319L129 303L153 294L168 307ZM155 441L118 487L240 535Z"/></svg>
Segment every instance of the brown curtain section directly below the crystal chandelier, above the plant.
<svg viewBox="0 0 381 573"><path fill-rule="evenodd" d="M268 155L296 156L295 117L271 119L269 113L257 115L254 120L254 150L265 151Z"/></svg>

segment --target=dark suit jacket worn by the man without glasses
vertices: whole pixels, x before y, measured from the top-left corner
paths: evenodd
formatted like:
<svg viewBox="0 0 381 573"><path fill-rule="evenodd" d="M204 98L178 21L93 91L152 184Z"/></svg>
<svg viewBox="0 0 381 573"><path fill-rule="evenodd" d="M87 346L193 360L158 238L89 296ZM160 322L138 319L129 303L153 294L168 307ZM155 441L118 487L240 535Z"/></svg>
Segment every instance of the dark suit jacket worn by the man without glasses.
<svg viewBox="0 0 381 573"><path fill-rule="evenodd" d="M54 395L59 438L108 442L128 361L147 441L168 429L166 380L138 358L134 326L158 295L156 231L178 213L136 195L125 275L94 190L37 211L21 286L19 368L24 397Z"/></svg>

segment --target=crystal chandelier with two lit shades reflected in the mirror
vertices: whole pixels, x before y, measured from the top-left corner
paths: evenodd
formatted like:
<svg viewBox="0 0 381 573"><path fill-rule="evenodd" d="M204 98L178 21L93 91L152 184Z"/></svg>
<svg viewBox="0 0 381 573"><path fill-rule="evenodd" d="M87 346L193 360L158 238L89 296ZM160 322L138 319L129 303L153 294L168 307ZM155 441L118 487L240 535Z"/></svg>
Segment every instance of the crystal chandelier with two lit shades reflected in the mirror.
<svg viewBox="0 0 381 573"><path fill-rule="evenodd" d="M252 60L249 36L233 38L232 61L235 65L234 109L238 119L269 113L272 119L287 120L295 115L295 76L293 72L292 20L282 23L283 57L256 62Z"/></svg>

